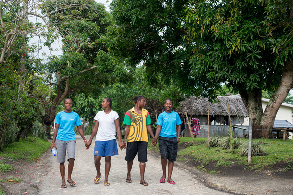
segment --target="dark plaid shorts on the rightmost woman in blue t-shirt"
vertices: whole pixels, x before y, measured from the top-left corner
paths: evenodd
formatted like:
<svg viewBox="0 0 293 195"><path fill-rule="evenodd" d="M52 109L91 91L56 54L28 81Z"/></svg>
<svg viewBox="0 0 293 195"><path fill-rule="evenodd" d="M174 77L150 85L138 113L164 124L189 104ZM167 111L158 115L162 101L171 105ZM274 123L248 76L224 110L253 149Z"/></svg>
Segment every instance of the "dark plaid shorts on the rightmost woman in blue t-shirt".
<svg viewBox="0 0 293 195"><path fill-rule="evenodd" d="M159 148L161 159L167 158L169 161L176 161L178 148L176 137L159 136Z"/></svg>

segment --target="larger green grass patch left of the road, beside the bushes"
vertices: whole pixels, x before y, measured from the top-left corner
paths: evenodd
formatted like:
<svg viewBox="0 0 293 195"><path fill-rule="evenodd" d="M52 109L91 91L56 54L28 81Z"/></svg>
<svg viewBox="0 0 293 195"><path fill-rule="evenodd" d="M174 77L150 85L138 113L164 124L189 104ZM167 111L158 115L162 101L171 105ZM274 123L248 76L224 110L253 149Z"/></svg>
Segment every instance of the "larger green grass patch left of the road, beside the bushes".
<svg viewBox="0 0 293 195"><path fill-rule="evenodd" d="M51 143L42 139L35 141L32 137L28 137L27 140L20 140L19 142L12 143L8 148L4 148L0 152L0 156L3 156L10 160L33 160L39 158L42 153L46 152Z"/></svg>

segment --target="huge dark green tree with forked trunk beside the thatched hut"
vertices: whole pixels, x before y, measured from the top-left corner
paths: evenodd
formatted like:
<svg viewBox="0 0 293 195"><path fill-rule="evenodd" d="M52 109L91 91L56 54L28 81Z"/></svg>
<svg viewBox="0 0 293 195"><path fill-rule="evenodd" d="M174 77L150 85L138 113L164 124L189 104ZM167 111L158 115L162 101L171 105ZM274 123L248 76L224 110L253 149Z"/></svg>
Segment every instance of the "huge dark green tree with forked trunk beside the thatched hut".
<svg viewBox="0 0 293 195"><path fill-rule="evenodd" d="M146 72L157 78L151 79L153 83L171 80L185 95L214 98L222 83L232 87L246 105L256 138L270 135L275 114L293 81L290 52L282 56L272 50L265 26L269 15L266 3L114 0L111 8L124 38L121 47L125 51L120 51L128 61L144 61ZM278 16L276 13L272 20ZM285 37L288 32L290 29L278 31ZM286 60L289 63L284 63ZM273 89L263 112L262 90Z"/></svg>

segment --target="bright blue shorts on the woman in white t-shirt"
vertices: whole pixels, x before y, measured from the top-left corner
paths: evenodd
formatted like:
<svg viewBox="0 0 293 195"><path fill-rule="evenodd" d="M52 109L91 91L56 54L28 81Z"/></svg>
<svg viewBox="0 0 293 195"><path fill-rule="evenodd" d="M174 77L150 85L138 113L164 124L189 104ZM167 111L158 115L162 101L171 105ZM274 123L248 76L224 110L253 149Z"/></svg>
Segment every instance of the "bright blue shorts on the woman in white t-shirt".
<svg viewBox="0 0 293 195"><path fill-rule="evenodd" d="M94 155L103 157L118 155L116 139L96 141Z"/></svg>

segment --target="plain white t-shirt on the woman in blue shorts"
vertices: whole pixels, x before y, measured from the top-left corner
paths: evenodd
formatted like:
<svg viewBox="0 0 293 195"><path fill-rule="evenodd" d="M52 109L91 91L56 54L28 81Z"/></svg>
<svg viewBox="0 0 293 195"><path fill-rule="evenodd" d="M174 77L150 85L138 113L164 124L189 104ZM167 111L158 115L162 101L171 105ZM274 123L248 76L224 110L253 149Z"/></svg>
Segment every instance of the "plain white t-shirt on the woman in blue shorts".
<svg viewBox="0 0 293 195"><path fill-rule="evenodd" d="M103 111L99 111L94 120L99 121L98 132L96 135L96 141L108 141L116 139L116 126L115 120L119 118L118 113L112 111L106 114Z"/></svg>

